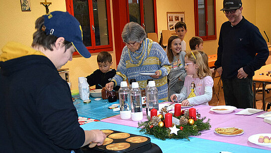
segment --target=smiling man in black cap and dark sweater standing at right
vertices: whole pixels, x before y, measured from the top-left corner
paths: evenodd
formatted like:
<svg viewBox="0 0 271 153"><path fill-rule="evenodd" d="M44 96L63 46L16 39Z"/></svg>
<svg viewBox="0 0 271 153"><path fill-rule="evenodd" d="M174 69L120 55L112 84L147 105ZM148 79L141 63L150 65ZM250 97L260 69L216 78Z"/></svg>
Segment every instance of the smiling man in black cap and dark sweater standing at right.
<svg viewBox="0 0 271 153"><path fill-rule="evenodd" d="M252 77L268 58L267 43L259 29L242 16L241 0L224 0L221 10L229 21L220 29L215 66L221 75L225 103L253 108Z"/></svg>

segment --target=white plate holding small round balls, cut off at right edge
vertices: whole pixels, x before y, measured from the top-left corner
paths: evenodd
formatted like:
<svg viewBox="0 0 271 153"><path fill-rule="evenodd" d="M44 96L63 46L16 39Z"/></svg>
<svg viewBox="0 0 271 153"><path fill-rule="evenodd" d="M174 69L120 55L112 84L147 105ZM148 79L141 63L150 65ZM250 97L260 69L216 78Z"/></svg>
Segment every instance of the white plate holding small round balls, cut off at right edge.
<svg viewBox="0 0 271 153"><path fill-rule="evenodd" d="M271 148L271 134L256 134L248 139L249 142L263 147Z"/></svg>

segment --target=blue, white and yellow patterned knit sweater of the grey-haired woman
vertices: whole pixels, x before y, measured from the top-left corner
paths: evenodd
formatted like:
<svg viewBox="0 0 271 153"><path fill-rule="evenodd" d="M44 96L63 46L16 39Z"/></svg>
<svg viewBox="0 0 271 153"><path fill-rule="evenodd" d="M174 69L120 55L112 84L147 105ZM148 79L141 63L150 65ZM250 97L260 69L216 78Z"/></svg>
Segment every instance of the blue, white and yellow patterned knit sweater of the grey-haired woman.
<svg viewBox="0 0 271 153"><path fill-rule="evenodd" d="M151 39L144 39L141 47L131 52L125 46L122 50L119 64L117 66L117 73L112 81L115 85L120 85L121 81L136 79L139 87L145 88L147 79L152 79L150 76L142 76L139 73L155 73L159 70L161 76L154 79L158 89L158 98L167 100L168 84L167 75L170 72L171 63L168 60L164 49Z"/></svg>

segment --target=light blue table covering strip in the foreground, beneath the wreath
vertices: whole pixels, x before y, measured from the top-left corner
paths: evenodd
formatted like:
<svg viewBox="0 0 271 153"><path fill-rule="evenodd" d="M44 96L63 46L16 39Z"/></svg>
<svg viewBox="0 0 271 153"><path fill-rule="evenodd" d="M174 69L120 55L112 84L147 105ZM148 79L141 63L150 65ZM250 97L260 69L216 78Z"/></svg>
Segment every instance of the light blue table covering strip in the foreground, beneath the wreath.
<svg viewBox="0 0 271 153"><path fill-rule="evenodd" d="M91 122L81 126L84 130L94 129L111 129L121 132L126 132L135 135L143 135L139 133L139 129L134 127L128 127L123 125L117 125L105 122ZM231 153L270 153L270 151L240 146L216 141L210 141L200 138L190 137L190 141L186 139L175 140L167 139L165 141L159 140L154 136L144 135L151 138L151 142L158 145L163 153L220 153L220 152L231 152Z"/></svg>

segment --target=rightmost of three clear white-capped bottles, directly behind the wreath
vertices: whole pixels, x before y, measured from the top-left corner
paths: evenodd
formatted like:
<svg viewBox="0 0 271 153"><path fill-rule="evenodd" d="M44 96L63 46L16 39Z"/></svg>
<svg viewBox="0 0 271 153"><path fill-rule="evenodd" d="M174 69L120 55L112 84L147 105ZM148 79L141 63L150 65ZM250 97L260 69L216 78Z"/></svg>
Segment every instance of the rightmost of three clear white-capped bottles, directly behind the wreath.
<svg viewBox="0 0 271 153"><path fill-rule="evenodd" d="M147 115L151 115L151 110L154 108L159 111L159 104L157 99L158 90L155 87L154 81L149 81L147 90Z"/></svg>

